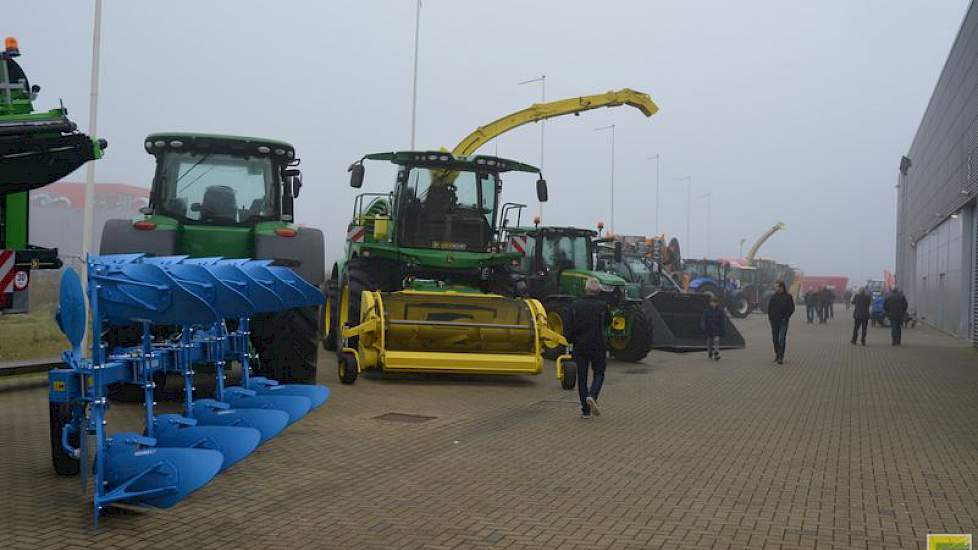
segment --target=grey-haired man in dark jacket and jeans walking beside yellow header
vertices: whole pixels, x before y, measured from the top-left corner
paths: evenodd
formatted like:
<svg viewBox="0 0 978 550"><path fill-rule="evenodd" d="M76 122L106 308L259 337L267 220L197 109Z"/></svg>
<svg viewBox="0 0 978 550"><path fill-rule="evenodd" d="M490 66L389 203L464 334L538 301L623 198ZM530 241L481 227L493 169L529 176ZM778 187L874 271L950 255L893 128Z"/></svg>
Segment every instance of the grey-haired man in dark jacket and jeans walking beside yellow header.
<svg viewBox="0 0 978 550"><path fill-rule="evenodd" d="M585 296L571 305L569 323L565 326L567 341L574 346L574 362L577 363L577 394L581 399L581 418L599 416L598 394L604 384L605 359L608 346L605 327L608 326L608 305L601 300L601 285L595 278L584 284ZM590 390L587 384L588 370L594 370Z"/></svg>

